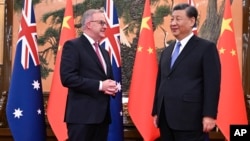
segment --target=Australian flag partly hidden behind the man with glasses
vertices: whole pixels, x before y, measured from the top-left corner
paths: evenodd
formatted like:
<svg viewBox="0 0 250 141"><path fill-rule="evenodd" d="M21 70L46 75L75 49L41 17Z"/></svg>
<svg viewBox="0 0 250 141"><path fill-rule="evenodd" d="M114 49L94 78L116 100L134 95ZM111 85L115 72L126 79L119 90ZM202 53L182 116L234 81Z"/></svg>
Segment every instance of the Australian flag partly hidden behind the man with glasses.
<svg viewBox="0 0 250 141"><path fill-rule="evenodd" d="M114 79L119 86L115 98L110 101L112 123L109 126L108 141L123 141L120 28L113 0L106 0L105 16L108 24L106 38L102 40L101 46L110 53Z"/></svg>

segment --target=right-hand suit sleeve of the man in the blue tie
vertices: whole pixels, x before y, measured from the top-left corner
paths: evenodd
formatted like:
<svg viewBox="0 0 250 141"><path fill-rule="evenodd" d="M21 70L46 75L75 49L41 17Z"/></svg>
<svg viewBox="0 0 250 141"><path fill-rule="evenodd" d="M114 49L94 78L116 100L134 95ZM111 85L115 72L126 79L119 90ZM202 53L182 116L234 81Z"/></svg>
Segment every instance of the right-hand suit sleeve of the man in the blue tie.
<svg viewBox="0 0 250 141"><path fill-rule="evenodd" d="M210 43L203 58L204 105L203 116L216 119L221 83L221 64L214 43Z"/></svg>

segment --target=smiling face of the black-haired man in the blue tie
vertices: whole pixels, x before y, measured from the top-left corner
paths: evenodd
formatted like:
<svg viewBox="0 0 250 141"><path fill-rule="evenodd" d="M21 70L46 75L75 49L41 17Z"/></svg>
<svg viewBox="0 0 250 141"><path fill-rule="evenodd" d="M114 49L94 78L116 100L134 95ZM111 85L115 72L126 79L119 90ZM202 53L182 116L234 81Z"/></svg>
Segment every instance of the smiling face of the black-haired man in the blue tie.
<svg viewBox="0 0 250 141"><path fill-rule="evenodd" d="M177 40L182 40L192 32L194 17L188 17L186 10L174 10L170 21L170 29Z"/></svg>

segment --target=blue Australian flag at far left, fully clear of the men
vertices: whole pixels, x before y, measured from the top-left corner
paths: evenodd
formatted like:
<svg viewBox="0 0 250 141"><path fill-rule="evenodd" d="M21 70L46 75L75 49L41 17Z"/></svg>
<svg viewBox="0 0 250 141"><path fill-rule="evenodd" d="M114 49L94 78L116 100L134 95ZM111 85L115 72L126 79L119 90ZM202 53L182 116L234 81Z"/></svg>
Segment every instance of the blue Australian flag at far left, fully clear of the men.
<svg viewBox="0 0 250 141"><path fill-rule="evenodd" d="M46 126L32 0L25 0L6 114L15 141L45 141Z"/></svg>

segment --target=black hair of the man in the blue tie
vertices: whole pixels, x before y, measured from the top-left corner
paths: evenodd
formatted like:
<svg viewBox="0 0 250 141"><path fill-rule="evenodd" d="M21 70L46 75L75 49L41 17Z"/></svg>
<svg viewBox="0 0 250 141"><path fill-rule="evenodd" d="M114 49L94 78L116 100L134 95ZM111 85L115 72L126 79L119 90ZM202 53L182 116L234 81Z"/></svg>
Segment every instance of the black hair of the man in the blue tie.
<svg viewBox="0 0 250 141"><path fill-rule="evenodd" d="M198 11L194 6L191 6L187 3L181 3L181 4L177 4L176 6L174 6L173 11L175 10L186 10L187 16L189 18L194 17L195 21L197 21Z"/></svg>

